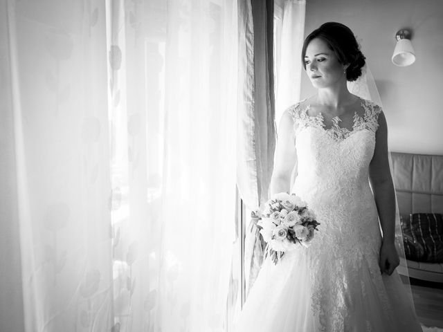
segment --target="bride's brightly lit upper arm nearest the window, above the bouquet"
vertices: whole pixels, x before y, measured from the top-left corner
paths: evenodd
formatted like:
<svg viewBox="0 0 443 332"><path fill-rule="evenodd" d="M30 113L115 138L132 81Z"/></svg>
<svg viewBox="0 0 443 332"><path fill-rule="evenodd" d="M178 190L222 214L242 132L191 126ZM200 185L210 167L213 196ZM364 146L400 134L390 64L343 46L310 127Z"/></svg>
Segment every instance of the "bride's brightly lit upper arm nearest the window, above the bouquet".
<svg viewBox="0 0 443 332"><path fill-rule="evenodd" d="M278 192L289 193L291 172L296 163L296 137L293 129L293 118L289 111L284 111L278 130L275 147L274 169L269 185L271 196Z"/></svg>

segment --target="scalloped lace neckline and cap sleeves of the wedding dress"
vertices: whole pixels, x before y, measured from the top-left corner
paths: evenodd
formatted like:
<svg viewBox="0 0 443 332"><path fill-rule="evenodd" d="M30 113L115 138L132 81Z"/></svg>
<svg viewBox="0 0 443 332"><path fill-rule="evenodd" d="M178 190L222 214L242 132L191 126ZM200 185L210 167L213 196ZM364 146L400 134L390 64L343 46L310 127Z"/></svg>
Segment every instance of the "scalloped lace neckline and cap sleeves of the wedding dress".
<svg viewBox="0 0 443 332"><path fill-rule="evenodd" d="M379 127L378 117L381 113L381 107L369 100L361 99L363 116L360 116L357 111L354 112L352 130L340 127L339 122L341 122L341 118L338 116L332 118L332 127L326 129L323 114L318 113L316 116L309 116L307 112L311 108L311 105L304 104L305 101L306 100L302 100L302 102L293 105L288 110L294 120L294 129L296 132L307 127L316 127L323 129L329 137L336 142L341 142L351 136L354 132L368 129L375 133Z"/></svg>

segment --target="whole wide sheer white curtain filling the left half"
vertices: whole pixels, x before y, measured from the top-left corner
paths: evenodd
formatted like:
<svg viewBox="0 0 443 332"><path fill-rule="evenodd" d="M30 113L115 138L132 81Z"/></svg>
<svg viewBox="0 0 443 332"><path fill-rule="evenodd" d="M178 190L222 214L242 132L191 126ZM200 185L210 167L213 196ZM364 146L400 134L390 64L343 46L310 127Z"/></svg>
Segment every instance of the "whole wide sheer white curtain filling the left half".
<svg viewBox="0 0 443 332"><path fill-rule="evenodd" d="M226 331L237 1L1 9L26 331Z"/></svg>

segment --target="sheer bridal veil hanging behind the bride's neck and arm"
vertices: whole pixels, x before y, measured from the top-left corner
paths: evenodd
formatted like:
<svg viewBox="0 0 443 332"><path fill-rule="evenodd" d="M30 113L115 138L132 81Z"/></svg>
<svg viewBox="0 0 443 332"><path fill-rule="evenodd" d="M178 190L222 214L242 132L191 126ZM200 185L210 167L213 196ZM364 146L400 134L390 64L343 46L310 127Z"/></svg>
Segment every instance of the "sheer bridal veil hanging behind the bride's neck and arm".
<svg viewBox="0 0 443 332"><path fill-rule="evenodd" d="M381 107L381 109L383 109L384 113L387 112L387 110L384 109L383 104L381 102L379 91L377 89L377 85L375 84L375 80L374 80L374 77L372 76L372 73L370 71L368 63L365 64L365 66L362 68L362 75L359 77L358 80L356 80L354 82L347 82L347 89L350 91L350 93L353 93L354 95L358 95L360 98L363 98L365 100L370 100L370 101L374 102L375 104L378 104L379 107ZM391 174L392 182L393 182L394 177L392 174L393 169L392 169L392 159L390 156L390 152L391 152L391 150L390 150L389 143L388 143L389 167L390 167L390 174ZM399 208L398 208L398 203L397 203L397 194L395 195L395 244L397 247L397 252L399 253L399 257L402 258L402 261L406 262L406 257L405 257L405 252L404 252L404 244L403 244L403 234L401 232ZM398 269L397 269L397 271L398 271ZM408 294L408 297L410 299L411 306L412 306L413 310L415 311L412 292L410 290L410 282L409 282L409 274L408 274L407 266L404 266L404 268L401 269L401 274L405 276L404 286L406 288L406 293Z"/></svg>

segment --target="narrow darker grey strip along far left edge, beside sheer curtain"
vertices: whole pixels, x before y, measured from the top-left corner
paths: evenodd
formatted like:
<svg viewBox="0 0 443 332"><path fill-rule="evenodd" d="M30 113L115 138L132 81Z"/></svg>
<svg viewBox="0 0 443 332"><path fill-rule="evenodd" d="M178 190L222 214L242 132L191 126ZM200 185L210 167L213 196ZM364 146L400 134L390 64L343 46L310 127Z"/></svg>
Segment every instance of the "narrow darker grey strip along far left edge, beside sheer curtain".
<svg viewBox="0 0 443 332"><path fill-rule="evenodd" d="M24 331L23 292L19 237L19 202L15 130L12 105L10 8L0 1L0 325L4 331ZM5 199L8 197L9 199Z"/></svg>

